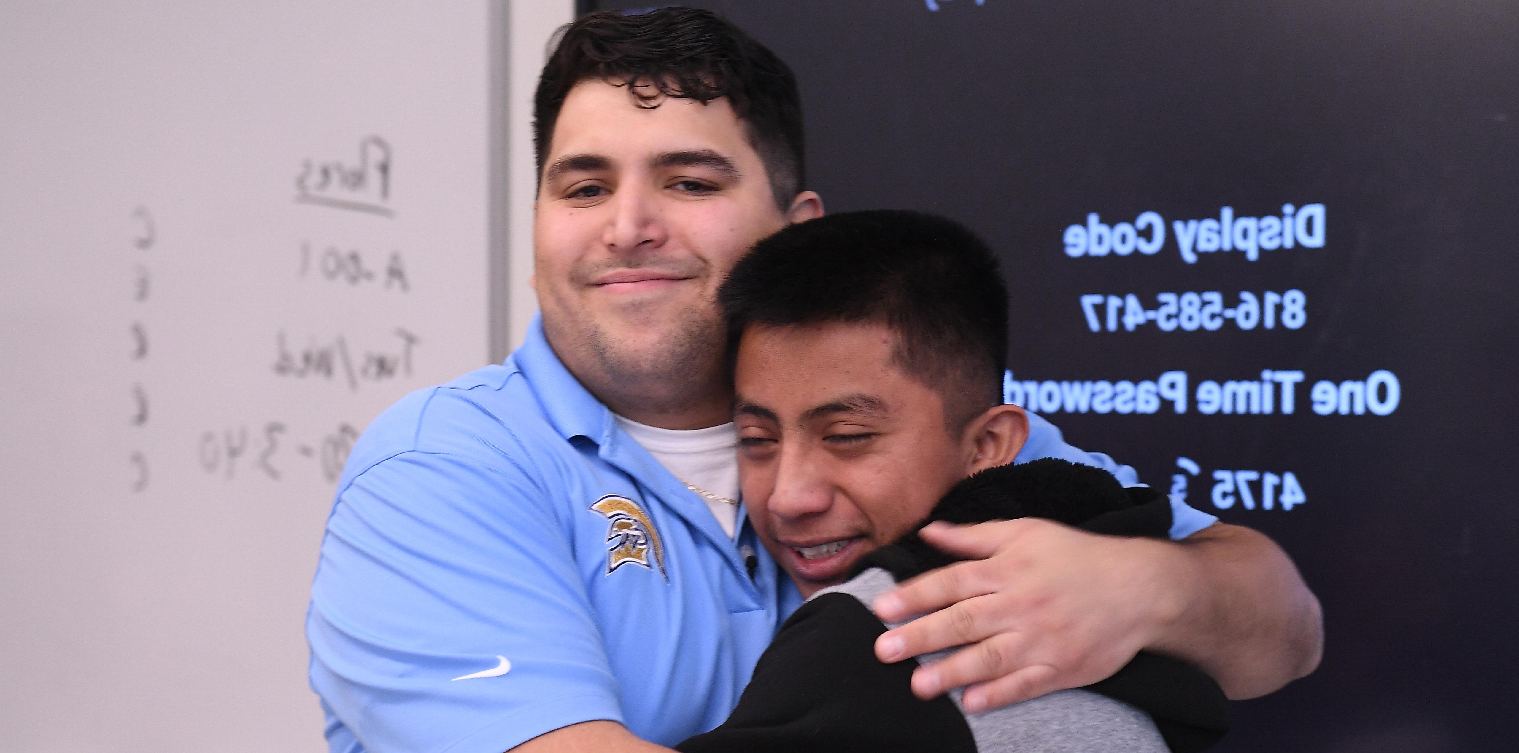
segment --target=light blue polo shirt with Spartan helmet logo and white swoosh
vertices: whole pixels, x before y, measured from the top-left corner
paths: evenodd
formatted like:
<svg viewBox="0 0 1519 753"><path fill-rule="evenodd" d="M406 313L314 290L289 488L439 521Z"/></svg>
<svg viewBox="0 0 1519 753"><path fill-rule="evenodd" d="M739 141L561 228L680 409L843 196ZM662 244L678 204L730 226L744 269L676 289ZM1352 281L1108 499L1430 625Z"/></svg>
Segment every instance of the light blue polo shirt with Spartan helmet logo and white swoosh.
<svg viewBox="0 0 1519 753"><path fill-rule="evenodd" d="M1030 446L1133 478L1042 419ZM731 540L618 428L535 317L504 364L403 398L348 458L307 615L330 748L501 753L591 720L670 745L715 727L801 604L743 510L738 527Z"/></svg>

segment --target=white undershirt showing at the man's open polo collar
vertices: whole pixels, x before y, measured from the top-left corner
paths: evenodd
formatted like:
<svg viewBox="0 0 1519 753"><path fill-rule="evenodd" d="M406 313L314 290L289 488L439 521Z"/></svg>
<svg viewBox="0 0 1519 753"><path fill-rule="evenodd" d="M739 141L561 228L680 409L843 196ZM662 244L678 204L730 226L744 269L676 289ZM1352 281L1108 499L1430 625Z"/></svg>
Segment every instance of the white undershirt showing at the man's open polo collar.
<svg viewBox="0 0 1519 753"><path fill-rule="evenodd" d="M681 481L718 496L738 499L738 430L722 427L673 430L638 424L612 414L633 442ZM738 506L697 495L712 510L728 537L738 524Z"/></svg>

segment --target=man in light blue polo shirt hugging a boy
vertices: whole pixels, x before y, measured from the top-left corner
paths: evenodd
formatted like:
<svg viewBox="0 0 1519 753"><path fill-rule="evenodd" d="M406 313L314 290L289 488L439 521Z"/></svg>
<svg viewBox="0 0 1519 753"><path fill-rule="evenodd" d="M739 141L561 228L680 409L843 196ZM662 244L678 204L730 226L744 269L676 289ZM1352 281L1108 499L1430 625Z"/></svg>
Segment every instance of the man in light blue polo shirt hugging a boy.
<svg viewBox="0 0 1519 753"><path fill-rule="evenodd" d="M504 364L377 417L339 481L307 618L333 750L636 750L734 707L801 595L738 503L715 291L760 238L822 214L799 102L784 62L703 11L565 30L535 99L539 317ZM1025 454L1133 480L1044 422ZM962 604L878 651L977 644L914 679L925 697L986 680L968 706L1086 685L1162 639L1240 694L1311 668L1317 601L1285 556L1188 515L1173 533L1194 536L1159 548L943 534L1018 554L962 565L969 591L930 574L899 592L898 609Z"/></svg>

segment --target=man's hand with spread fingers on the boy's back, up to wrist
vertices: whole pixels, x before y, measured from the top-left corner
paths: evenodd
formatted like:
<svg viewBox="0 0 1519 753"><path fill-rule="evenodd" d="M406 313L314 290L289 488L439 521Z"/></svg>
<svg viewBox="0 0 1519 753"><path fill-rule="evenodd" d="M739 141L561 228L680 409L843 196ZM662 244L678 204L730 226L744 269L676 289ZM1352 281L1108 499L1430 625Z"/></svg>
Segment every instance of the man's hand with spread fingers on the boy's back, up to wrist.
<svg viewBox="0 0 1519 753"><path fill-rule="evenodd" d="M931 698L980 682L962 698L978 712L1101 680L1154 638L1167 595L1139 565L1144 539L1095 536L1022 518L978 525L931 524L924 540L971 557L919 575L876 600L883 619L939 610L883 635L884 662L968 645L913 673ZM943 609L948 607L948 609Z"/></svg>

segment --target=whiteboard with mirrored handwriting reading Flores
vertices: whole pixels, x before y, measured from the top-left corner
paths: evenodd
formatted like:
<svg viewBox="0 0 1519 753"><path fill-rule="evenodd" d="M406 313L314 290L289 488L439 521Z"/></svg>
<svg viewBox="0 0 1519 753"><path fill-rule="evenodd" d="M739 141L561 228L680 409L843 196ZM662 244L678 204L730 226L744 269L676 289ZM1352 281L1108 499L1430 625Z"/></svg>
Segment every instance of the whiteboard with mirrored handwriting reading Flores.
<svg viewBox="0 0 1519 753"><path fill-rule="evenodd" d="M504 349L503 18L0 8L0 750L325 750L348 446Z"/></svg>

